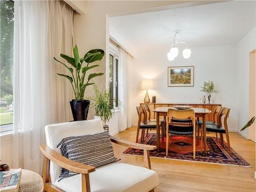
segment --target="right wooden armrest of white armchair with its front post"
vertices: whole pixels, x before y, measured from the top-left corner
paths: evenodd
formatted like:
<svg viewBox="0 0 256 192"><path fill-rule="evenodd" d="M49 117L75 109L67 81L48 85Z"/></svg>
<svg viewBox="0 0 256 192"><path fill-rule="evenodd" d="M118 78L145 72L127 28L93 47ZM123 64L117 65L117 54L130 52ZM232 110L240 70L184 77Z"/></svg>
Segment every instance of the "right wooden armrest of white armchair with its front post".
<svg viewBox="0 0 256 192"><path fill-rule="evenodd" d="M155 145L145 145L140 143L135 143L132 141L127 141L123 139L119 139L113 136L110 136L110 139L113 143L117 143L119 145L127 146L136 148L138 150L143 150L143 158L144 158L144 167L151 169L151 162L150 162L150 150L156 150Z"/></svg>

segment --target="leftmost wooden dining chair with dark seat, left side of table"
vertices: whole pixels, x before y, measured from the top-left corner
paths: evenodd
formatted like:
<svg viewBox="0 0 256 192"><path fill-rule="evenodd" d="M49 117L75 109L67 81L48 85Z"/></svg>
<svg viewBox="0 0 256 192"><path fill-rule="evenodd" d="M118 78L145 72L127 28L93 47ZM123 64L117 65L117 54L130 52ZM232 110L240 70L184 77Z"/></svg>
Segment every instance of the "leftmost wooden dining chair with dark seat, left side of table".
<svg viewBox="0 0 256 192"><path fill-rule="evenodd" d="M138 113L138 125L137 125L137 135L136 135L136 143L138 142L139 138L139 132L141 130L141 141L144 139L145 130L147 129L156 129L157 128L157 122L148 122L146 121L145 117L145 111L143 110L142 106L137 106L137 113ZM160 128L162 127L162 123L160 123Z"/></svg>

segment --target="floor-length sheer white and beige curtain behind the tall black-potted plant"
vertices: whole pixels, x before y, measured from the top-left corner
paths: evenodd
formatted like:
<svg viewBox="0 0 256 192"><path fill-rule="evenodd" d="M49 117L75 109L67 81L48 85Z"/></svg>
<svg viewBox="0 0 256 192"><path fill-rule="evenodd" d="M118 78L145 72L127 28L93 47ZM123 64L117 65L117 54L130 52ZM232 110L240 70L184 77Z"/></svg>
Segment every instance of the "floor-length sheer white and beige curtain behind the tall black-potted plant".
<svg viewBox="0 0 256 192"><path fill-rule="evenodd" d="M44 127L71 119L72 91L53 59L71 55L73 11L62 1L14 2L13 167L41 172Z"/></svg>

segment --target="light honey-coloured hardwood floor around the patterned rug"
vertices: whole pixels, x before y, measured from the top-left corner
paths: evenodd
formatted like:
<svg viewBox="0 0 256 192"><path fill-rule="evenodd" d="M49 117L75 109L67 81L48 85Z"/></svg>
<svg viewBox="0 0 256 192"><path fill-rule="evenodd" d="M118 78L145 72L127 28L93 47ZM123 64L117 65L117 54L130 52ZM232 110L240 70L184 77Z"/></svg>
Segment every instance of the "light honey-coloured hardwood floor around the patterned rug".
<svg viewBox="0 0 256 192"><path fill-rule="evenodd" d="M209 135L215 136L215 134ZM136 127L118 133L115 137L135 141ZM231 147L252 167L151 158L152 169L156 170L160 180L155 192L256 191L255 143L238 133L230 132L229 137ZM143 166L143 157L122 155L127 147L113 145L116 157L121 159L120 162Z"/></svg>

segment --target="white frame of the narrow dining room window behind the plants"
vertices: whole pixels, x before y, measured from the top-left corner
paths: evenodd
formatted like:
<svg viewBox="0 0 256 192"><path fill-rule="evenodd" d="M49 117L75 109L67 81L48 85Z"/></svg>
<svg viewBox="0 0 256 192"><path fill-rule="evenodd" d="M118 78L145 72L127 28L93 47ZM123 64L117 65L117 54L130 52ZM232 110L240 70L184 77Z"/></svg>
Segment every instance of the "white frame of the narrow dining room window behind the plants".
<svg viewBox="0 0 256 192"><path fill-rule="evenodd" d="M117 73L116 73L116 59L117 59L117 65L119 65L119 57L118 57L118 50L117 50L117 48L114 49L112 47L113 46L110 47L109 54L113 56L113 97L115 99L118 99L118 95L117 95L117 98L116 98L116 89L117 89L117 93L118 93L118 74L119 74L119 68L117 69ZM116 82L116 79L117 79L117 82ZM113 102L113 110L114 111L119 110L118 106L116 106L116 102Z"/></svg>

